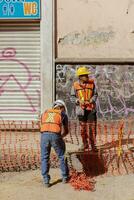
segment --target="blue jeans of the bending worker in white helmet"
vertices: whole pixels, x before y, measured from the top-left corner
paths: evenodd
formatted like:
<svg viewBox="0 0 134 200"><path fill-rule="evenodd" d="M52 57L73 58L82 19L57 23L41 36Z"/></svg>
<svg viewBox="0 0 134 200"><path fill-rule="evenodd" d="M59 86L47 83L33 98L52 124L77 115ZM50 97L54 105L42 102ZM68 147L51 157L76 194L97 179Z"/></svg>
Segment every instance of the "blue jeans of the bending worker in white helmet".
<svg viewBox="0 0 134 200"><path fill-rule="evenodd" d="M45 183L49 183L49 158L51 147L54 148L59 160L62 178L68 178L68 167L64 158L65 143L62 137L51 132L41 133L41 173Z"/></svg>

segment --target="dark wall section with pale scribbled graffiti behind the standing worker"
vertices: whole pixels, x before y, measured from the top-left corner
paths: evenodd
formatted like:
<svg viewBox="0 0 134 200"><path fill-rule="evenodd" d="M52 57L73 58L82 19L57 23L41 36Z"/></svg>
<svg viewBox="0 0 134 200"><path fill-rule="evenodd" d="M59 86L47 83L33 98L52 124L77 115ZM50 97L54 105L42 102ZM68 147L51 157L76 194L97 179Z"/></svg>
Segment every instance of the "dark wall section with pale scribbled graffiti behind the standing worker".
<svg viewBox="0 0 134 200"><path fill-rule="evenodd" d="M134 114L134 66L86 65L92 71L98 91L99 118L118 119ZM77 79L78 65L56 66L56 98L65 100L70 118L75 118L75 105L71 102L71 88Z"/></svg>

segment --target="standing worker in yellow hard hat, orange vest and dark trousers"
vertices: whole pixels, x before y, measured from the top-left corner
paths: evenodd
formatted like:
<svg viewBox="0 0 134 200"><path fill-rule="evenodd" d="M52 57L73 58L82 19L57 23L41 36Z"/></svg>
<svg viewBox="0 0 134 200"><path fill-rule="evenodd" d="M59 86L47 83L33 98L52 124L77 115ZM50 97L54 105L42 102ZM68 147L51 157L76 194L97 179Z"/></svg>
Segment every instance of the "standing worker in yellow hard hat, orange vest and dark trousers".
<svg viewBox="0 0 134 200"><path fill-rule="evenodd" d="M97 91L93 79L89 79L91 72L85 66L80 66L76 75L79 80L74 82L71 90L71 99L76 104L76 115L80 122L82 147L80 150L86 150L91 144L93 151L96 148L96 99ZM88 139L89 138L89 139Z"/></svg>

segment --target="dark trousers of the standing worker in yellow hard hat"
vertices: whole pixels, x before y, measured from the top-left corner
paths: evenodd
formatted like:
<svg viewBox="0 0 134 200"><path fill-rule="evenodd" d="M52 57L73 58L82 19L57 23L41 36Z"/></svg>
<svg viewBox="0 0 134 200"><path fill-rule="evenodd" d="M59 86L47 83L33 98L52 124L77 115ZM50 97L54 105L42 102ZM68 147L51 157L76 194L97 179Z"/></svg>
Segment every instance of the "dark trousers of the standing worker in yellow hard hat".
<svg viewBox="0 0 134 200"><path fill-rule="evenodd" d="M96 126L97 116L96 111L84 110L83 116L78 116L80 122L80 130L84 148L88 148L91 144L92 149L96 145Z"/></svg>

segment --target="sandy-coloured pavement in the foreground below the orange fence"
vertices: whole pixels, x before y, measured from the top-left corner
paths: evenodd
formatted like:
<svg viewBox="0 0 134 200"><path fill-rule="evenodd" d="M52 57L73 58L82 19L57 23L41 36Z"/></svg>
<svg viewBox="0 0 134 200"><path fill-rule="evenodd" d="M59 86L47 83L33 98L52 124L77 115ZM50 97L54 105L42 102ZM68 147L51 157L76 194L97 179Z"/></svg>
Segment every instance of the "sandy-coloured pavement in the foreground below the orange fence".
<svg viewBox="0 0 134 200"><path fill-rule="evenodd" d="M75 191L62 184L59 169L51 169L53 186L44 188L40 170L0 174L1 200L134 200L134 175L97 177L94 192Z"/></svg>

